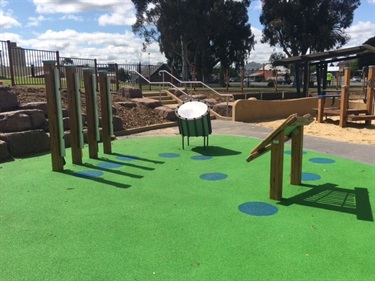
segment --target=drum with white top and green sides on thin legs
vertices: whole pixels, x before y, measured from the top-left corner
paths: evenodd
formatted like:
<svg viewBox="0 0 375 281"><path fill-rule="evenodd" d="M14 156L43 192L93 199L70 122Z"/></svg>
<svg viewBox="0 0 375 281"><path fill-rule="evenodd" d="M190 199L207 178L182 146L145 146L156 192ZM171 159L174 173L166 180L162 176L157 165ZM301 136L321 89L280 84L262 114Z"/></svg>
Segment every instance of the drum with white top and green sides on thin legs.
<svg viewBox="0 0 375 281"><path fill-rule="evenodd" d="M212 133L209 106L202 101L188 101L179 105L175 111L178 119L178 129L182 136L182 149L184 137L189 145L190 137L203 137L203 146L208 146L208 135ZM207 139L206 139L207 138Z"/></svg>

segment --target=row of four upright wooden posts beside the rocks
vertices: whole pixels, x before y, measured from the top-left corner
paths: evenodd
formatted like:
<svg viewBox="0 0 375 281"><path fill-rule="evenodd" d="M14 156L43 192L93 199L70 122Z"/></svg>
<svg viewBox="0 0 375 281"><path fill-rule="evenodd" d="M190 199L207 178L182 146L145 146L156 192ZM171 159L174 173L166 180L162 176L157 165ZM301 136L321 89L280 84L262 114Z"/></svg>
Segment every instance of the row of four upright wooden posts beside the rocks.
<svg viewBox="0 0 375 281"><path fill-rule="evenodd" d="M48 105L50 150L52 170L63 171L65 164L65 140L61 104L60 73L56 61L44 61L44 76ZM112 153L113 136L112 99L110 81L106 71L99 71L99 93L101 110L101 132L99 129L99 110L97 102L97 77L94 69L84 69L84 91L86 98L87 144L90 158L98 158L98 143L103 142L103 152ZM70 146L72 163L82 164L84 131L82 122L80 79L75 66L66 66Z"/></svg>

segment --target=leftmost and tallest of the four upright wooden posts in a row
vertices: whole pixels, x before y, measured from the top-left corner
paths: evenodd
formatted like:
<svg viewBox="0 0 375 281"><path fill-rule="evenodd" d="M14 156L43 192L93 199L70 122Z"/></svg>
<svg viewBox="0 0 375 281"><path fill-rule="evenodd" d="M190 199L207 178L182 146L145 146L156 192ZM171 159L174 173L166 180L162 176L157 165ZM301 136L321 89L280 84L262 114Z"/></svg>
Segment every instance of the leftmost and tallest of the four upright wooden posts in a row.
<svg viewBox="0 0 375 281"><path fill-rule="evenodd" d="M52 170L60 172L64 170L65 142L64 128L62 124L62 109L60 86L58 82L58 73L56 70L56 61L44 61L44 81L46 86L47 105L48 105L48 126L50 133L50 150L52 159Z"/></svg>

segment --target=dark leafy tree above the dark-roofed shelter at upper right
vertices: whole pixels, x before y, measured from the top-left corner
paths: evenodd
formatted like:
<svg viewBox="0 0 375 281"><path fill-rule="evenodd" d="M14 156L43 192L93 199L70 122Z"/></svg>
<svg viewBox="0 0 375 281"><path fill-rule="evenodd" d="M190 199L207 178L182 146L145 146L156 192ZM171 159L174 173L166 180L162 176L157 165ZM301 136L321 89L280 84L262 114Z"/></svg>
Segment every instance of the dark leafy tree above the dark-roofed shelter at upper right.
<svg viewBox="0 0 375 281"><path fill-rule="evenodd" d="M360 0L263 0L262 43L280 46L288 57L345 45L344 29Z"/></svg>

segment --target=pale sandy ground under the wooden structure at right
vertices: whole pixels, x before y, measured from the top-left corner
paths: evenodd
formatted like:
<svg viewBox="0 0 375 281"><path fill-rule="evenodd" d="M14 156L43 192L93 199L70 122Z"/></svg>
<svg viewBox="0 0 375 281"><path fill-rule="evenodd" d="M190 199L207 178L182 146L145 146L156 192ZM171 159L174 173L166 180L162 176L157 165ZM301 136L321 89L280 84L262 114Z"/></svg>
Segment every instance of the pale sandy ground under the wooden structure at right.
<svg viewBox="0 0 375 281"><path fill-rule="evenodd" d="M284 120L277 120L272 122L260 122L256 125L272 128L277 128ZM375 145L375 121L372 125L364 125L364 122L350 123L347 127L341 128L339 119L336 117L328 118L325 123L318 123L314 121L310 125L305 126L305 135L328 138L337 141L345 141L358 144Z"/></svg>

